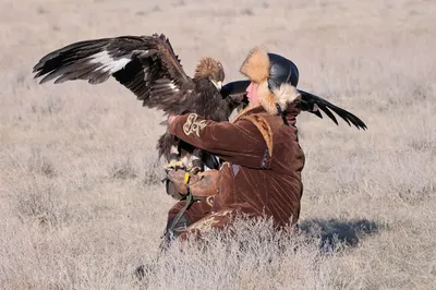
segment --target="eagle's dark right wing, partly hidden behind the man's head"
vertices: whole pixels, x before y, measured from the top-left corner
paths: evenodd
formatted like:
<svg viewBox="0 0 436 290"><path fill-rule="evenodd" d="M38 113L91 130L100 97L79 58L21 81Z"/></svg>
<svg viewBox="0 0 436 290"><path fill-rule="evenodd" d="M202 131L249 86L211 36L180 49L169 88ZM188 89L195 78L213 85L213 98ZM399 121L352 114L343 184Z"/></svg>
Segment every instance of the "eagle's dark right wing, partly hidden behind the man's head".
<svg viewBox="0 0 436 290"><path fill-rule="evenodd" d="M246 92L245 89L249 87L251 81L235 81L228 83L226 86L221 88L221 95L226 97L230 97L233 101L243 102L247 105ZM336 124L338 121L330 110L336 112L339 117L341 117L350 126L351 123L355 125L358 129L367 129L366 124L359 119L353 113L335 106L334 104L325 100L322 97L315 96L311 93L298 89L301 94L300 109L302 111L308 111L311 113L316 114L317 117L323 119L323 114L320 110L324 111ZM330 110L329 110L330 109Z"/></svg>

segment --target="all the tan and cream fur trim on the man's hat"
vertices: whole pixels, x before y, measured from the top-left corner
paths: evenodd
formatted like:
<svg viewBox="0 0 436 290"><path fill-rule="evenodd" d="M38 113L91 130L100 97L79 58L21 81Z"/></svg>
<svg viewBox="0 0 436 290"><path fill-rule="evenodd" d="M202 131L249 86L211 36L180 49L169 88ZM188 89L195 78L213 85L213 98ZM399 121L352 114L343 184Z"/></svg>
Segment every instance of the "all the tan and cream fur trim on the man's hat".
<svg viewBox="0 0 436 290"><path fill-rule="evenodd" d="M289 83L281 84L279 88L271 92L268 88L269 70L268 52L255 47L242 63L240 72L258 84L257 96L265 110L270 114L278 114L276 104L284 111L289 102L300 98L300 93Z"/></svg>

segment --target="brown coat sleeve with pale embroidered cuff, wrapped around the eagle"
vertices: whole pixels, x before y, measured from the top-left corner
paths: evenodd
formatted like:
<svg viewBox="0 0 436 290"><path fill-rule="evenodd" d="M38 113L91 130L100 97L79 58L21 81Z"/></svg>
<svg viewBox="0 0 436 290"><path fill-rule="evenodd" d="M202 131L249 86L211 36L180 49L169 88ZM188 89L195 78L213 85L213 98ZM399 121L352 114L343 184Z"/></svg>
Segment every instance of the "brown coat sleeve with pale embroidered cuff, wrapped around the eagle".
<svg viewBox="0 0 436 290"><path fill-rule="evenodd" d="M169 131L197 148L241 166L262 168L267 154L261 131L246 120L215 122L186 113L174 118Z"/></svg>

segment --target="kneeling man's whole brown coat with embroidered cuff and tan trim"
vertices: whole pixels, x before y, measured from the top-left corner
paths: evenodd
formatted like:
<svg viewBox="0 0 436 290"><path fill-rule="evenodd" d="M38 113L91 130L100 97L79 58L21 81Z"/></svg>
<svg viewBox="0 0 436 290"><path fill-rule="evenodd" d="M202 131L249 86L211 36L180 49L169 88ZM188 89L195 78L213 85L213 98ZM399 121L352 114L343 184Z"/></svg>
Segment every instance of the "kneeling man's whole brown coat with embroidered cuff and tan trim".
<svg viewBox="0 0 436 290"><path fill-rule="evenodd" d="M237 212L266 214L278 227L296 223L305 161L295 128L299 113L294 105L288 106L289 126L262 106L246 108L232 122L196 114L174 119L170 133L226 160L217 173L210 213L189 230L222 228Z"/></svg>

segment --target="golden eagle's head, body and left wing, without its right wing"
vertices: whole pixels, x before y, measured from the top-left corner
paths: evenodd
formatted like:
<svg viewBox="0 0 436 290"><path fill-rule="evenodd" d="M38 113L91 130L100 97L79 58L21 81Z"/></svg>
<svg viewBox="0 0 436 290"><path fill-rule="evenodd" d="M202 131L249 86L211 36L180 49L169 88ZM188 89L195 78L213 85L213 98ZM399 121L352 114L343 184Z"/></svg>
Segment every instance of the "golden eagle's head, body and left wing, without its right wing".
<svg viewBox="0 0 436 290"><path fill-rule="evenodd" d="M164 35L120 36L78 41L55 50L34 67L39 84L55 80L55 84L72 80L86 80L100 84L113 76L143 101L144 107L157 108L166 113L195 112L215 121L227 121L240 100L226 87L222 64L211 58L202 58L191 78L184 72L179 57ZM218 168L216 158L190 144L162 134L157 144L159 158L167 160L195 155L207 167ZM187 154L186 154L187 153ZM174 157L178 156L178 157ZM184 160L185 165L192 160ZM181 165L172 162L172 166Z"/></svg>

